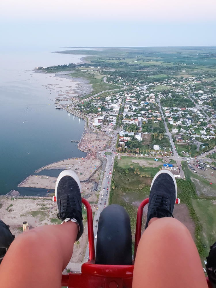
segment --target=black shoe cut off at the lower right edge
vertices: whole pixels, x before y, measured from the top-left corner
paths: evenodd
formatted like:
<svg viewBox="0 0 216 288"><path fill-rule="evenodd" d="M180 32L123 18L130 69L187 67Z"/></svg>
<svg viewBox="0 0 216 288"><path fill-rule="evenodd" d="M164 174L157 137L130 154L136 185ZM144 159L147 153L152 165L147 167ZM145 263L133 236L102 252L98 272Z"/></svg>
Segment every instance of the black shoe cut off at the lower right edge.
<svg viewBox="0 0 216 288"><path fill-rule="evenodd" d="M212 287L216 287L216 242L210 246L209 256L206 257L206 272Z"/></svg>

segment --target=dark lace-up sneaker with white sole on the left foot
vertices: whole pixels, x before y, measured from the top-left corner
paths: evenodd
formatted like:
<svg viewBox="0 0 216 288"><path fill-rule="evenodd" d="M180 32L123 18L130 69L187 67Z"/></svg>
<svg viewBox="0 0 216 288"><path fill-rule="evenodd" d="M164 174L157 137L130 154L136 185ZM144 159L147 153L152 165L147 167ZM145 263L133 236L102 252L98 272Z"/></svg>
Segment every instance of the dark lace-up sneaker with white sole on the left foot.
<svg viewBox="0 0 216 288"><path fill-rule="evenodd" d="M56 202L58 219L61 219L62 223L71 220L79 225L77 241L83 233L83 223L81 184L75 172L65 170L59 174L56 181Z"/></svg>

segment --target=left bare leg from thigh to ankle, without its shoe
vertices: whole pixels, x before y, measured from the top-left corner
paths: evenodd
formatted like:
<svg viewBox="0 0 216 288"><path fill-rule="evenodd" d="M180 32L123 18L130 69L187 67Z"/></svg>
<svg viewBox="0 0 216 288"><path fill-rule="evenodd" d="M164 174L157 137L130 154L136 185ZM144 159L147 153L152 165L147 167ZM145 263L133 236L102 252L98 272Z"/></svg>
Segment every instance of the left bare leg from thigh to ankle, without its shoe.
<svg viewBox="0 0 216 288"><path fill-rule="evenodd" d="M47 225L16 237L1 265L1 287L59 288L73 253L77 223Z"/></svg>

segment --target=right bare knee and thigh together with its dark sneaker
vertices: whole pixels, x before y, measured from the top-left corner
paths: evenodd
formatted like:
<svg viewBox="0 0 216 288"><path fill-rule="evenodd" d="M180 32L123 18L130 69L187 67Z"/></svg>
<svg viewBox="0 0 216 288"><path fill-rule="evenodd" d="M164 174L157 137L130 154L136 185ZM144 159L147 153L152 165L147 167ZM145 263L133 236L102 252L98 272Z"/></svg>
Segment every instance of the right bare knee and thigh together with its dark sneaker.
<svg viewBox="0 0 216 288"><path fill-rule="evenodd" d="M207 287L199 254L187 228L173 217L177 183L170 171L151 182L146 229L138 245L133 288Z"/></svg>

